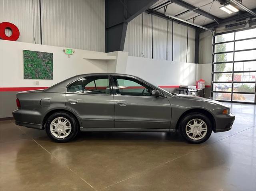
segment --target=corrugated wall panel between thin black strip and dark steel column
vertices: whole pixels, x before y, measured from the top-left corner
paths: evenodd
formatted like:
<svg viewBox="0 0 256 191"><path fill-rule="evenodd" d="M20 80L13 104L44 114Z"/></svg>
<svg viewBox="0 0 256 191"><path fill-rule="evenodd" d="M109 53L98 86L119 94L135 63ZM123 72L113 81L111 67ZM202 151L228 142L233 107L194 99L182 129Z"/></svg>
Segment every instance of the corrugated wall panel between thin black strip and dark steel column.
<svg viewBox="0 0 256 191"><path fill-rule="evenodd" d="M105 51L104 0L42 0L43 44Z"/></svg>

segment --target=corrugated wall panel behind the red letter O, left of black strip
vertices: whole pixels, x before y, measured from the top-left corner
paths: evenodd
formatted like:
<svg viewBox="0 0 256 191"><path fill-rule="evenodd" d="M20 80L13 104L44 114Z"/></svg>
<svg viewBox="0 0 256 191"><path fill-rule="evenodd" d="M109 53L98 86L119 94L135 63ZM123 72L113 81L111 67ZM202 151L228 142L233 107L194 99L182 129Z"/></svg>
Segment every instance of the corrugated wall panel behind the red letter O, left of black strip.
<svg viewBox="0 0 256 191"><path fill-rule="evenodd" d="M38 0L1 0L0 22L10 22L19 28L18 41L40 43ZM10 30L6 34L11 35Z"/></svg>

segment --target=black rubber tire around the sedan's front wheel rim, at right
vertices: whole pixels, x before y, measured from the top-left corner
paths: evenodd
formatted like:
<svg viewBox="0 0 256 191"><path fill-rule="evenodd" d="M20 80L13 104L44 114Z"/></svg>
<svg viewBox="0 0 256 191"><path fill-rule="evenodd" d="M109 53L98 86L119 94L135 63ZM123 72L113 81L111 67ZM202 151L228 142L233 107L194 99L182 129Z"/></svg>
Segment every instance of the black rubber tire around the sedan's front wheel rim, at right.
<svg viewBox="0 0 256 191"><path fill-rule="evenodd" d="M204 132L206 134L205 135L203 134L204 137L199 140L194 140L186 134L186 126L187 126L188 122L190 122L191 120L194 120L194 119L199 119L199 120L204 121L207 126L207 131ZM208 140L208 138L210 138L210 136L212 134L212 122L206 115L204 115L202 113L198 113L198 112L192 112L192 113L189 113L186 116L184 116L184 118L182 118L182 120L180 121L179 132L180 132L180 135L182 136L182 138L184 138L187 142L192 143L192 144L200 144L200 143L203 143L206 140ZM196 137L199 138L199 135Z"/></svg>

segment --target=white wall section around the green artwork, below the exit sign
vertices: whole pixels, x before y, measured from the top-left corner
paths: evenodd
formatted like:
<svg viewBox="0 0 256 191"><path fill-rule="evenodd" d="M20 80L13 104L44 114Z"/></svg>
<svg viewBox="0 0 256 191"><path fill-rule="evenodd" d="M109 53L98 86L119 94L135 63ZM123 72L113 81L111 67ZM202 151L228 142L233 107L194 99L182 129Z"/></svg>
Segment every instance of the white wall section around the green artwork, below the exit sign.
<svg viewBox="0 0 256 191"><path fill-rule="evenodd" d="M23 50L53 53L53 80L23 78ZM107 71L107 61L84 59L86 55L102 57L107 53L75 49L68 58L63 47L0 40L0 87L50 87L64 79L84 73Z"/></svg>

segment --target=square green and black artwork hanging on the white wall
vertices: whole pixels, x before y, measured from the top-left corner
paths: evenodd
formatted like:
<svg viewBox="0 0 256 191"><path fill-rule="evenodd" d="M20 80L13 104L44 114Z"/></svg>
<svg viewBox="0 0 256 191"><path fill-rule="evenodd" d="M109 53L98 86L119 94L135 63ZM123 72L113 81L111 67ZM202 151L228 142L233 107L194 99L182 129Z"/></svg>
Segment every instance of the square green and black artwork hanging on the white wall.
<svg viewBox="0 0 256 191"><path fill-rule="evenodd" d="M23 50L24 79L53 79L53 53Z"/></svg>

